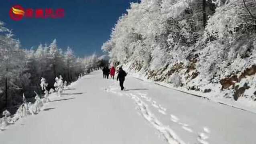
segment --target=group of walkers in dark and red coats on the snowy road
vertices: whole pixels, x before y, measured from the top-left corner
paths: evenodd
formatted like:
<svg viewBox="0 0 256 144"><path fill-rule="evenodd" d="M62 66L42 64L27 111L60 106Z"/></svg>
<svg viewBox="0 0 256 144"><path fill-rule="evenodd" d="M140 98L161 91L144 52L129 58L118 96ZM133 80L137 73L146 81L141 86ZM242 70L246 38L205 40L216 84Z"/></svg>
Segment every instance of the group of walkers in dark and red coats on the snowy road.
<svg viewBox="0 0 256 144"><path fill-rule="evenodd" d="M109 69L108 67L105 66L102 69L102 72L103 72L103 78L108 79L108 76L110 74L111 78L113 78L113 80L114 80L114 76L115 76L115 73L116 73L116 69L114 68L114 66L112 66L111 69ZM117 75L117 79L116 80L119 80L119 84L120 84L121 90L124 90L124 86L123 85L124 85L125 76L127 74L126 74L126 72L122 68L119 68L117 73L118 73L118 75Z"/></svg>

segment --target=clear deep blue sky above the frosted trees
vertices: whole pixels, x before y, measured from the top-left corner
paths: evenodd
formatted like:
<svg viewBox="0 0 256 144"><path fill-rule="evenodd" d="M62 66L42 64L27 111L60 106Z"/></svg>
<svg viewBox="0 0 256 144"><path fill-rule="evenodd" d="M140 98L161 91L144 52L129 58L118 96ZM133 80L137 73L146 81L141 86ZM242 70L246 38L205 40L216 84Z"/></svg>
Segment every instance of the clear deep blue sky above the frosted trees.
<svg viewBox="0 0 256 144"><path fill-rule="evenodd" d="M112 27L129 7L139 0L4 0L0 6L0 20L12 29L22 48L49 44L56 38L65 50L70 46L77 56L103 54L102 43L110 38ZM64 8L62 19L10 19L9 10L19 4L23 8Z"/></svg>

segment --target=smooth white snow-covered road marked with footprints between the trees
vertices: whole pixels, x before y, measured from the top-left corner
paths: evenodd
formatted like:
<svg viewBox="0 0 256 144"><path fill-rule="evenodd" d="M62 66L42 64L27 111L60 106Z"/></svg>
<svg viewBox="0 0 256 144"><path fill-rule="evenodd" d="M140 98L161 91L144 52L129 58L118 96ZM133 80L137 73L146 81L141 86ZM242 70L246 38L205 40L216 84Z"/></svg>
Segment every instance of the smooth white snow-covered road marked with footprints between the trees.
<svg viewBox="0 0 256 144"><path fill-rule="evenodd" d="M0 132L0 144L254 144L256 114L127 77L93 72L44 111Z"/></svg>

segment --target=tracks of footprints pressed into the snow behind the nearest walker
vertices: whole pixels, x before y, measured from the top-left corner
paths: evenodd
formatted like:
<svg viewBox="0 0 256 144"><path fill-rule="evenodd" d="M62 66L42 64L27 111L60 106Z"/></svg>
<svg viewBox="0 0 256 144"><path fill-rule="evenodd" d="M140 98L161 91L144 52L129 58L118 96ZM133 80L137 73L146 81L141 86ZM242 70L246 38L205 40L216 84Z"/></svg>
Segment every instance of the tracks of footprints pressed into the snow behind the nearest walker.
<svg viewBox="0 0 256 144"><path fill-rule="evenodd" d="M112 92L114 94L118 94L122 96L123 94L121 92L116 92L115 90L118 90L117 88L114 88L112 86L107 87L105 90L108 92ZM148 122L150 122L156 129L159 130L164 136L164 138L169 142L170 144L185 144L176 134L169 128L169 126L164 126L161 122L158 121L158 119L148 110L148 106L146 103L144 103L142 100L140 100L139 96L146 100L147 102L150 102L150 104L158 109L158 112L167 115L166 111L167 109L161 106L161 104L157 104L155 100L152 100L152 98L149 98L147 94L138 93L139 96L136 96L135 94L129 93L125 94L129 98L132 98L135 100L138 107L136 109L140 112L140 115L142 115ZM181 125L181 128L186 130L187 132L193 132L192 128L189 128L189 124L185 124L179 121L179 118L173 114L170 114L171 118L170 120L174 123L177 123ZM194 132L195 133L195 132ZM207 142L207 139L209 138L209 129L207 127L203 127L202 132L198 132L197 134L197 141L198 144L209 144ZM195 133L196 134L196 133Z"/></svg>

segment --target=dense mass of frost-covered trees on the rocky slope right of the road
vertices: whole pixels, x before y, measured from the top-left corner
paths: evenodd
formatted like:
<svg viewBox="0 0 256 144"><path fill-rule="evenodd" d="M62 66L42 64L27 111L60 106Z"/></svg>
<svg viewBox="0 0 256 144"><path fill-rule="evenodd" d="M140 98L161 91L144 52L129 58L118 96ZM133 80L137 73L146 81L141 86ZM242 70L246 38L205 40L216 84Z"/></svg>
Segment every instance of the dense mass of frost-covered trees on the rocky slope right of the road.
<svg viewBox="0 0 256 144"><path fill-rule="evenodd" d="M174 86L202 92L228 82L232 95L255 68L255 37L255 0L141 0L120 16L102 50L111 64L148 78L178 78Z"/></svg>

